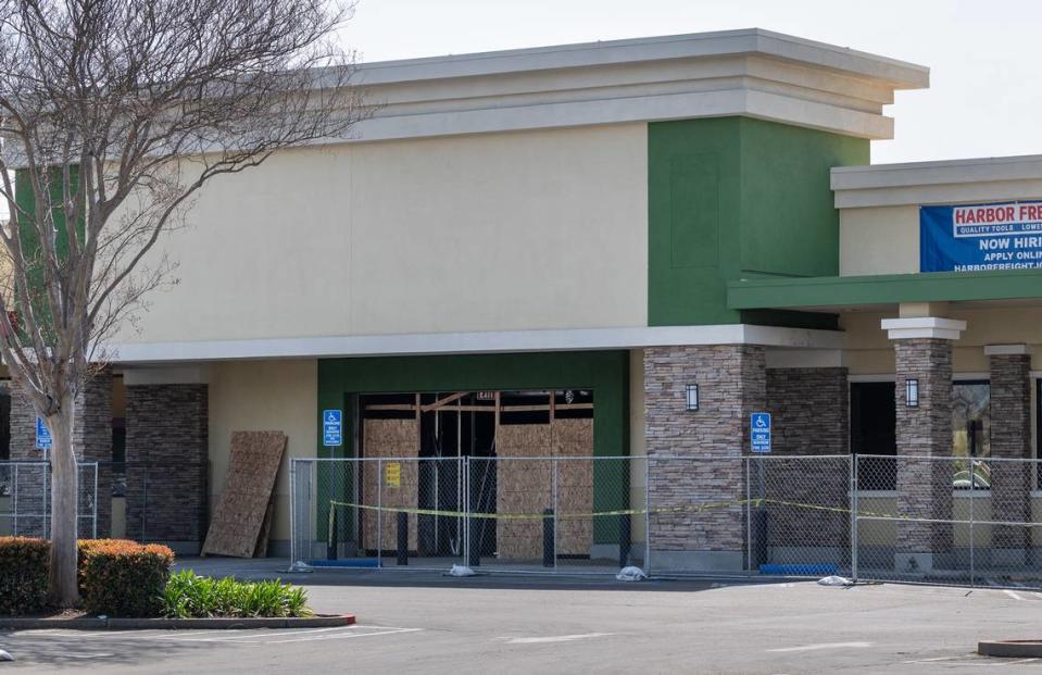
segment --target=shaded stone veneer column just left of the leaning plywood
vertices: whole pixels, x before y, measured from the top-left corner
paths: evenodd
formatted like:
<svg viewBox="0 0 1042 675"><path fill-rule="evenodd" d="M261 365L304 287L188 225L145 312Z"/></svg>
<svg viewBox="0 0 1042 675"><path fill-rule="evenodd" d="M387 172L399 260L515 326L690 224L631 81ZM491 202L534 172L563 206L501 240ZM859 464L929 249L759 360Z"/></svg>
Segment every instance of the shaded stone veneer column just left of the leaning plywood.
<svg viewBox="0 0 1042 675"><path fill-rule="evenodd" d="M198 553L208 522L209 385L125 382L127 536Z"/></svg>

